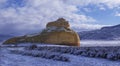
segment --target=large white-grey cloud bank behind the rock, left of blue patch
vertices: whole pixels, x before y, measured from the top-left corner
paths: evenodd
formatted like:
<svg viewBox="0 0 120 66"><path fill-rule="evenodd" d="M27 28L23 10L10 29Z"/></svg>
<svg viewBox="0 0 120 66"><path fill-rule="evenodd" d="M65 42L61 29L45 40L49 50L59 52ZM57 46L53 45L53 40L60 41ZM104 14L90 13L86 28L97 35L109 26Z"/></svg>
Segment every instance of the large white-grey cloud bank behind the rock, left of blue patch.
<svg viewBox="0 0 120 66"><path fill-rule="evenodd" d="M76 5L68 5L60 0L28 0L24 7L9 7L0 10L2 25L13 26L14 31L33 31L45 27L49 21L64 17L70 22L94 22L92 17L77 14ZM7 28L7 27L6 27ZM8 28L13 30L13 28Z"/></svg>

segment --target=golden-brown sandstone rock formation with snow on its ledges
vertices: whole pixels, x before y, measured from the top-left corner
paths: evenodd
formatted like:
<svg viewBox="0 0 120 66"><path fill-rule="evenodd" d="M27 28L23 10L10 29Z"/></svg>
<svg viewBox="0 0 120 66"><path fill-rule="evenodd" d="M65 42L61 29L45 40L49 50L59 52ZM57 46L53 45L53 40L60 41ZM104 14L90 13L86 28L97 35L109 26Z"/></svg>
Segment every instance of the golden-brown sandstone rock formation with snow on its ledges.
<svg viewBox="0 0 120 66"><path fill-rule="evenodd" d="M68 46L80 45L78 34L70 29L68 21L66 21L64 18L59 18L56 21L49 22L41 33L14 37L5 41L4 44L17 44L26 42Z"/></svg>

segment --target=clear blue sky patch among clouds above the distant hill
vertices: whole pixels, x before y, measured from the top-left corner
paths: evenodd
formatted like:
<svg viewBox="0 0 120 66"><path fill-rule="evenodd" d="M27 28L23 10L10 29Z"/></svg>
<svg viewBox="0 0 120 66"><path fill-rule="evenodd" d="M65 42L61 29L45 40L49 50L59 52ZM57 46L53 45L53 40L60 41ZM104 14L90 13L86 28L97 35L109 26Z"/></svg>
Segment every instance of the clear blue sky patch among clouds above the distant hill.
<svg viewBox="0 0 120 66"><path fill-rule="evenodd" d="M110 25L116 25L116 24L120 24L120 17L119 16L115 16L116 12L119 11L119 9L109 9L107 7L105 7L105 10L103 9L99 9L99 7L95 7L95 5L91 6L87 6L86 8L91 9L91 12L85 12L84 13L88 16L93 17L94 19L97 20L97 23L99 24L110 24Z"/></svg>

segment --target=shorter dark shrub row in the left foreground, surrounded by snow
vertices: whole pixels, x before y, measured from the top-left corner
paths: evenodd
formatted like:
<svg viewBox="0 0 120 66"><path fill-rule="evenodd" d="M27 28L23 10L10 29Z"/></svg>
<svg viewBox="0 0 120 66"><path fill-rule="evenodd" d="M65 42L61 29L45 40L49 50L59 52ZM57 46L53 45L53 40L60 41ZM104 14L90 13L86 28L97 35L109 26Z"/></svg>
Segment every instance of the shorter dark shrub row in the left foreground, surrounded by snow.
<svg viewBox="0 0 120 66"><path fill-rule="evenodd" d="M69 57L63 56L58 53L51 53L51 52L40 52L40 51L20 51L20 50L11 50L11 53L14 54L21 54L25 56L32 56L32 57L41 57L45 59L53 59L57 61L64 61L69 62Z"/></svg>

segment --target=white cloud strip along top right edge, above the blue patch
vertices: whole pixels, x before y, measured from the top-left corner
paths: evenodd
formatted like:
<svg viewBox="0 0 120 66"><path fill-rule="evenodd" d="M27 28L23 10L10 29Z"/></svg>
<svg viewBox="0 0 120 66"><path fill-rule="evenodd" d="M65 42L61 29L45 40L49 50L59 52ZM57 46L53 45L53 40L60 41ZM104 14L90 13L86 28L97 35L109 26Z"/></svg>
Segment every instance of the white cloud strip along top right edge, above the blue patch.
<svg viewBox="0 0 120 66"><path fill-rule="evenodd" d="M99 6L100 4L106 5L108 8L115 8L120 6L120 0L65 0L68 4L86 6L89 4L94 4Z"/></svg>

